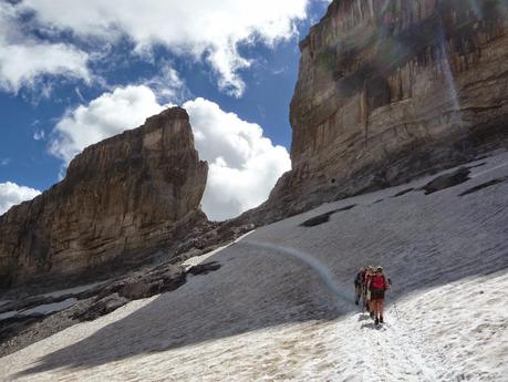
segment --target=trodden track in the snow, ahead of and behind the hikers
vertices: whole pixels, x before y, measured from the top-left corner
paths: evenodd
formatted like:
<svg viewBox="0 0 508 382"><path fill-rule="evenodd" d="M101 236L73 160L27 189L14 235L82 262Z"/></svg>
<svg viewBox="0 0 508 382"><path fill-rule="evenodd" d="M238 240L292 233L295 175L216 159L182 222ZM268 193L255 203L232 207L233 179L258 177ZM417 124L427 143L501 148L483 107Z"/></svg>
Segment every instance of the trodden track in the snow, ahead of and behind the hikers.
<svg viewBox="0 0 508 382"><path fill-rule="evenodd" d="M333 281L333 275L323 264L310 254L302 252L294 248L288 248L269 242L241 241L241 245L271 251L271 255L282 254L307 265L314 271L326 286L326 288L338 297L339 307L344 302L354 303L353 295L341 288ZM392 306L391 311L395 312L396 307ZM349 333L353 340L348 354L353 359L357 368L364 371L361 374L346 379L350 381L363 382L435 382L443 380L446 369L440 360L434 355L434 351L417 339L417 332L405 323L401 317L395 321L395 312L392 316L393 323L385 323L375 327L369 314L360 313L357 329L354 333ZM356 316L353 316L356 317ZM360 345L357 347L359 339ZM346 381L344 380L344 381Z"/></svg>

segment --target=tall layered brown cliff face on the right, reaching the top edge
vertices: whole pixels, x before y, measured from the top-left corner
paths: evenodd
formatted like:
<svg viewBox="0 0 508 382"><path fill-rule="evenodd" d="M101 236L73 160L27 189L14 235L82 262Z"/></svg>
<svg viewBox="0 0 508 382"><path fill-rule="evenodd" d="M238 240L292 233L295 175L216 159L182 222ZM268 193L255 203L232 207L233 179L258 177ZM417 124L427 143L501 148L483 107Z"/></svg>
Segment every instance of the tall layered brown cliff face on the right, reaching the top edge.
<svg viewBox="0 0 508 382"><path fill-rule="evenodd" d="M501 0L333 1L300 44L292 171L269 204L304 209L499 144L507 32Z"/></svg>

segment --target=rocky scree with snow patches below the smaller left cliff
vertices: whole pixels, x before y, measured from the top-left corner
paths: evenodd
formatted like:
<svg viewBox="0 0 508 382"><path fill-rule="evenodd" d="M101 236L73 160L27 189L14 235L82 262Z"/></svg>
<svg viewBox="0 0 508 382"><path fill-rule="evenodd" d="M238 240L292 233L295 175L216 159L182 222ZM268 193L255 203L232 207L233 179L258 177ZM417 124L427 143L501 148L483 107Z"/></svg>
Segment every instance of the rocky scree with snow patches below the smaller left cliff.
<svg viewBox="0 0 508 382"><path fill-rule="evenodd" d="M197 264L196 258L211 254L235 242L241 235L252 229L243 226L227 230L214 244L197 249L200 244L193 239L193 249L176 257L157 259L157 265L145 265L135 271L116 270L108 278L75 279L70 285L80 287L61 289L62 283L32 285L19 287L0 298L0 357L4 357L34 342L43 340L79 322L93 321L108 314L126 303L178 289L187 282L187 276L207 275L220 269L214 261ZM184 242L189 246L189 242ZM121 276L118 276L121 275ZM41 288L48 288L41 293ZM34 292L38 290L38 292ZM50 291L51 290L51 291Z"/></svg>

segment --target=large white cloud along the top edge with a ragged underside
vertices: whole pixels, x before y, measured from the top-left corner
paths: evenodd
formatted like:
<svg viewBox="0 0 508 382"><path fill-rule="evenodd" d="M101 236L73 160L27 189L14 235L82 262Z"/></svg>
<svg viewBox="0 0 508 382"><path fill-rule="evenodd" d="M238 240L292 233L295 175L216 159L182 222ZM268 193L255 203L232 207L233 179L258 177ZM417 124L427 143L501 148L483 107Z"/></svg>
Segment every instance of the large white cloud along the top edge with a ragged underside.
<svg viewBox="0 0 508 382"><path fill-rule="evenodd" d="M245 83L238 72L250 62L238 44L258 40L273 45L293 37L294 21L307 17L310 1L23 0L19 7L34 11L49 28L81 37L112 41L126 34L141 54L163 44L195 60L205 56L219 74L219 86L240 96Z"/></svg>

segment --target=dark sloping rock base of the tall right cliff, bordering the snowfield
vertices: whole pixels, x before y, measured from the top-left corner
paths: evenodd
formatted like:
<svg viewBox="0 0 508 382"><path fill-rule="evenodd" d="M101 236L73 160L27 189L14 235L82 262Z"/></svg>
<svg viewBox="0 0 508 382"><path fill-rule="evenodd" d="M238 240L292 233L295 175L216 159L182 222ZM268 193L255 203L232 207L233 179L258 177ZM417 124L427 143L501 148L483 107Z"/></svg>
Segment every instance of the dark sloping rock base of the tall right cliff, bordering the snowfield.
<svg viewBox="0 0 508 382"><path fill-rule="evenodd" d="M326 202L403 185L507 149L508 118L500 116L497 124L476 126L470 133L449 136L445 142L412 142L345 177L293 168L282 175L266 203L235 221L263 226Z"/></svg>

